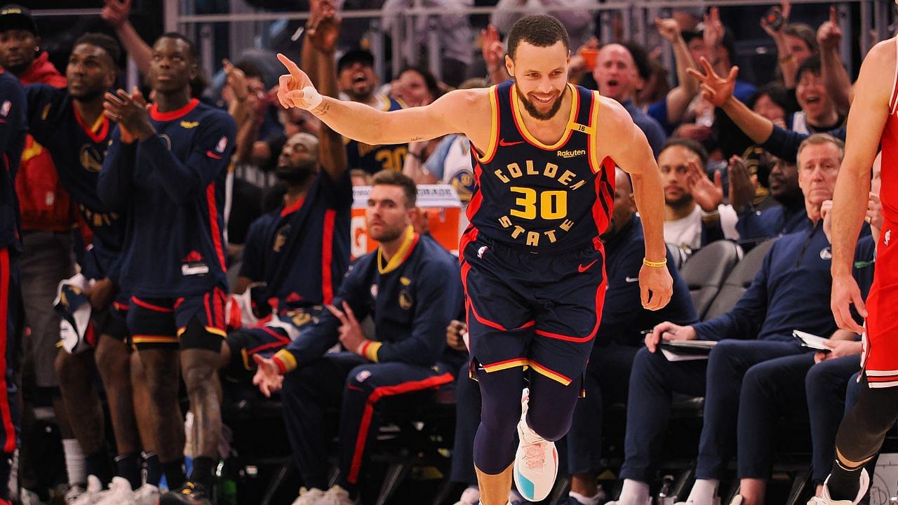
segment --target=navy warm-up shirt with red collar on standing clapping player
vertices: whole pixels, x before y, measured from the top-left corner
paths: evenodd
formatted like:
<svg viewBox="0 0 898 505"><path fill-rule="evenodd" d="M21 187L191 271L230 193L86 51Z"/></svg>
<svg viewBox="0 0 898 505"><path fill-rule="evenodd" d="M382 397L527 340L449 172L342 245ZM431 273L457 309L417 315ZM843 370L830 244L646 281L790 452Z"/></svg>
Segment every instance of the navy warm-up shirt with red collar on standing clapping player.
<svg viewBox="0 0 898 505"><path fill-rule="evenodd" d="M131 144L112 132L98 191L127 210L120 284L140 297L187 297L226 288L225 182L236 126L191 100L150 111L156 134Z"/></svg>

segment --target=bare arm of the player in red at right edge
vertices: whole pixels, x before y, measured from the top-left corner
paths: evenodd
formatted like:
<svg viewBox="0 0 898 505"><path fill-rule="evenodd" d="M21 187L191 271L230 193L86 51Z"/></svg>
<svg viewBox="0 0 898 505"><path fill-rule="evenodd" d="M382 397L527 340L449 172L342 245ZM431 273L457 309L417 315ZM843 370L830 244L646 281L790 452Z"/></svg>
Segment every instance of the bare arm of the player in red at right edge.
<svg viewBox="0 0 898 505"><path fill-rule="evenodd" d="M832 196L832 313L844 330L863 332L851 319L850 304L866 315L857 282L851 277L854 250L867 212L870 167L889 116L895 72L894 40L880 42L860 66L857 93L848 114L845 157Z"/></svg>

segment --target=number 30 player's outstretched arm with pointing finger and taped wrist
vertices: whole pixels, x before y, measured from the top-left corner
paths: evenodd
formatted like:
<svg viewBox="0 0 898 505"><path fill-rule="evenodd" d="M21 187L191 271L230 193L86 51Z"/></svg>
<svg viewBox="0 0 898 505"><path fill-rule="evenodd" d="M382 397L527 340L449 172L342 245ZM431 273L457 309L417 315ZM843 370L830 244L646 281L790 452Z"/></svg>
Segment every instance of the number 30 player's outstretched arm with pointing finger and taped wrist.
<svg viewBox="0 0 898 505"><path fill-rule="evenodd" d="M372 146L429 140L450 133L470 136L471 126L484 117L489 124L488 90L456 90L424 107L401 111L377 111L357 102L322 96L308 76L284 55L277 55L287 69L281 75L277 98L285 108L299 107L344 137ZM485 112L484 112L485 111Z"/></svg>

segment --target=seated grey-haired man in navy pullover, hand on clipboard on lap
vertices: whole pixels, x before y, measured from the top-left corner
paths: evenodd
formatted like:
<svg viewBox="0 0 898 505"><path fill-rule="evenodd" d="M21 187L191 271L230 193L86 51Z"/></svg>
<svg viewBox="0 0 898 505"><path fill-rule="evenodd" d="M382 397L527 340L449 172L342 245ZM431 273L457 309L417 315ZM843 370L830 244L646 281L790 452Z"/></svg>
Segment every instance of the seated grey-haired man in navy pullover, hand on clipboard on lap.
<svg viewBox="0 0 898 505"><path fill-rule="evenodd" d="M735 445L743 377L753 365L807 350L792 337L799 329L830 336L835 323L828 303L830 243L823 233L821 206L832 198L843 155L841 141L814 135L798 157L798 184L813 226L779 238L736 306L691 326L657 324L633 363L627 404L626 458L619 505L650 501L648 480L660 456L673 392L704 396L697 481L686 503L716 503L719 475ZM656 352L662 340L720 341L708 360L670 362Z"/></svg>

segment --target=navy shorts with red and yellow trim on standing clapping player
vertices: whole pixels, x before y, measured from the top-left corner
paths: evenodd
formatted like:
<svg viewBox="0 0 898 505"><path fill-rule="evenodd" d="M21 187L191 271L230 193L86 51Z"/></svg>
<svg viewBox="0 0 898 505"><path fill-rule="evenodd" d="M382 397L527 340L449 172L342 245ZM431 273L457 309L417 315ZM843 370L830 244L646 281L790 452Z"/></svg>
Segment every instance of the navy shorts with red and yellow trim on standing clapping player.
<svg viewBox="0 0 898 505"><path fill-rule="evenodd" d="M218 352L225 332L225 291L213 288L192 297L132 296L128 331L137 350L206 349Z"/></svg>

